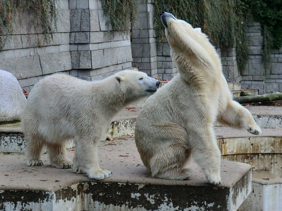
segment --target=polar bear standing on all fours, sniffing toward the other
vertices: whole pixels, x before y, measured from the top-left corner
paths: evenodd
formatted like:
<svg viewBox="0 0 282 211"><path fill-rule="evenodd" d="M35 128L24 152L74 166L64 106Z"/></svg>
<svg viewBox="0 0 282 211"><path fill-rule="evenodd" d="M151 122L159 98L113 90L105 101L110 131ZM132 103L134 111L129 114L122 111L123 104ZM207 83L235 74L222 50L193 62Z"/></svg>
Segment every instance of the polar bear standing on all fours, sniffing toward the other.
<svg viewBox="0 0 282 211"><path fill-rule="evenodd" d="M39 81L24 106L22 127L26 138L26 165L43 165L47 145L50 163L71 168L91 179L109 177L98 163L98 144L113 116L124 106L157 91L159 81L146 73L124 70L100 81L84 81L56 74ZM73 164L66 158L66 142L74 138Z"/></svg>

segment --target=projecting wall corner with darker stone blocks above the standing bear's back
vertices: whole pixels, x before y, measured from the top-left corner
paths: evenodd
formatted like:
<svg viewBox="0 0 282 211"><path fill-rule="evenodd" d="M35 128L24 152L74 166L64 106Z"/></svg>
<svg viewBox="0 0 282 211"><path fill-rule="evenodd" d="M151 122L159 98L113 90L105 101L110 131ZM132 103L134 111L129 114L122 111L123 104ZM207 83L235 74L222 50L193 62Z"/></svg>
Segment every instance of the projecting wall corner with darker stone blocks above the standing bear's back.
<svg viewBox="0 0 282 211"><path fill-rule="evenodd" d="M105 78L132 66L130 31L112 30L101 0L70 0L70 55L71 75Z"/></svg>

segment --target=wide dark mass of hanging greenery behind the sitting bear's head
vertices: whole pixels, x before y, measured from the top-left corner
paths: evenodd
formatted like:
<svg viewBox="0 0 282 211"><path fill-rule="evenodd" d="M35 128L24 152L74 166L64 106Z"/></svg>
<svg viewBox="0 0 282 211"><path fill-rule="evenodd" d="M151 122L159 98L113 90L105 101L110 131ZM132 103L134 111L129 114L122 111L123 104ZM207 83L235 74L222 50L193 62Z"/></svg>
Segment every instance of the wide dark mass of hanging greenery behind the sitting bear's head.
<svg viewBox="0 0 282 211"><path fill-rule="evenodd" d="M214 45L221 48L236 46L240 70L248 58L246 26L251 16L262 25L265 64L269 61L270 49L282 45L281 0L154 0L154 3L154 24L159 37L164 36L159 13L165 10L194 28L202 28Z"/></svg>

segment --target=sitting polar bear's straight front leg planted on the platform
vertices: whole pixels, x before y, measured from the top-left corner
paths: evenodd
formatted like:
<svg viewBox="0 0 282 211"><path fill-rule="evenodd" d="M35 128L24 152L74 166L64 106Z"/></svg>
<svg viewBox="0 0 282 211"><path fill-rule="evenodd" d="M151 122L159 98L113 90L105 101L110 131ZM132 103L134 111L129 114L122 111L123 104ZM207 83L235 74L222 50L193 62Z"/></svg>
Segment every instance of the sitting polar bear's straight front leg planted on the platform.
<svg viewBox="0 0 282 211"><path fill-rule="evenodd" d="M220 184L221 153L217 146L216 136L211 126L201 127L189 134L192 155L203 169L207 180L214 185Z"/></svg>

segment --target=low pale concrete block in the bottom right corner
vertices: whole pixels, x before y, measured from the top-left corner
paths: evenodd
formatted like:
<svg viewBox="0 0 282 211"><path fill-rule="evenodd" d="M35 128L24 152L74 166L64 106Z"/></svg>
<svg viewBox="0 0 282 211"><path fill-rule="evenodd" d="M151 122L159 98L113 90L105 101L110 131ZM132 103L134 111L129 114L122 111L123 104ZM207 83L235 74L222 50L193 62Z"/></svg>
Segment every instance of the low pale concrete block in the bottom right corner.
<svg viewBox="0 0 282 211"><path fill-rule="evenodd" d="M269 171L253 171L252 192L238 211L281 210L282 178Z"/></svg>

